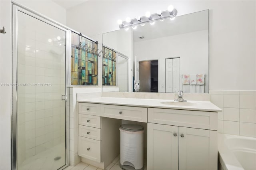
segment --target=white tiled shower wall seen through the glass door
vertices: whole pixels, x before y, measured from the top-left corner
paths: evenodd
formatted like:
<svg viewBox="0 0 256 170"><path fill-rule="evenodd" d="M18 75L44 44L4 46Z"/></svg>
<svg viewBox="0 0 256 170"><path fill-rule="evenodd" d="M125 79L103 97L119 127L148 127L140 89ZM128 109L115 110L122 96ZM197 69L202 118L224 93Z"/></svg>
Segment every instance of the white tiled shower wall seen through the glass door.
<svg viewBox="0 0 256 170"><path fill-rule="evenodd" d="M48 49L44 33L28 30L23 20L18 22L18 82L52 83L50 87L18 86L20 164L64 142L65 130L61 129L65 129L65 103L60 97L65 88L65 67L60 64L64 61L56 61L58 56Z"/></svg>

